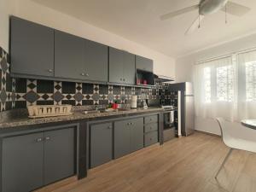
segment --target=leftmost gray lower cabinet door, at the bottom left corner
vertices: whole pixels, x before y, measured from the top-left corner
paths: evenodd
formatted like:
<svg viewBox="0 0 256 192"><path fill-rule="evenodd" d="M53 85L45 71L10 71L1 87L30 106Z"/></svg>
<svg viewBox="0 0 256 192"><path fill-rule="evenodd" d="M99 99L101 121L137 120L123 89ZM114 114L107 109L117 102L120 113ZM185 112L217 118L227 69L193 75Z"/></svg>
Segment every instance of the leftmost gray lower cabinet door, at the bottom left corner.
<svg viewBox="0 0 256 192"><path fill-rule="evenodd" d="M3 138L2 192L27 192L43 185L44 133Z"/></svg>

